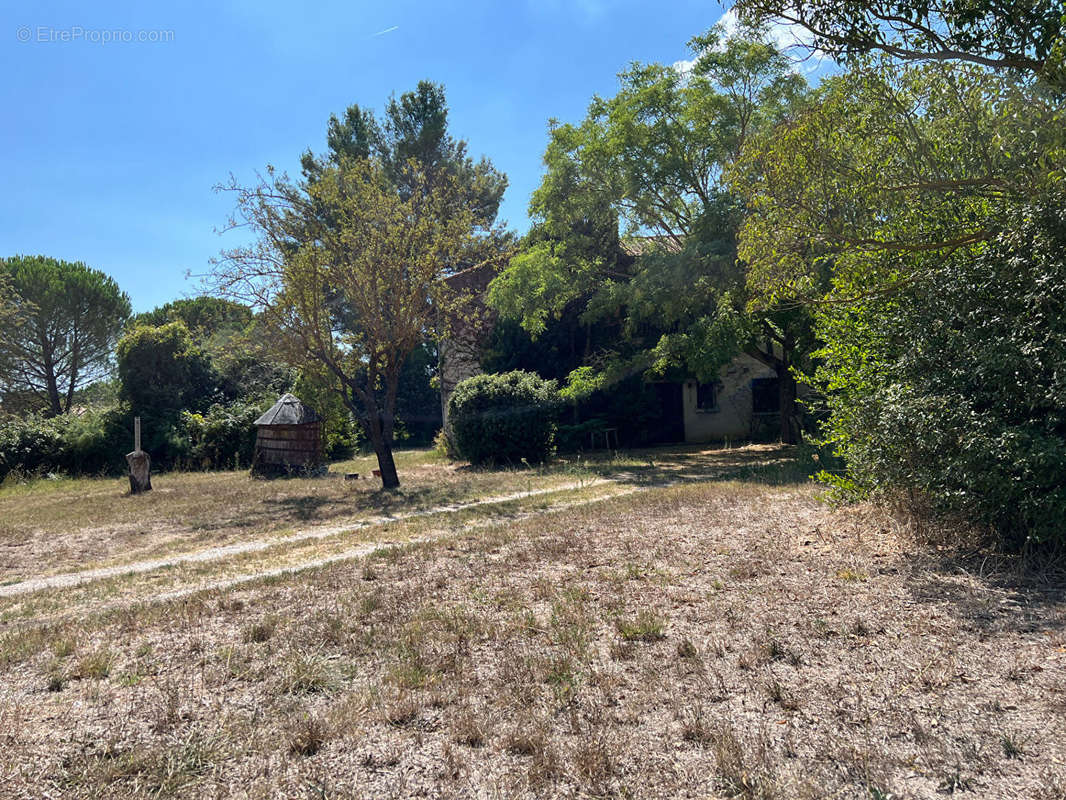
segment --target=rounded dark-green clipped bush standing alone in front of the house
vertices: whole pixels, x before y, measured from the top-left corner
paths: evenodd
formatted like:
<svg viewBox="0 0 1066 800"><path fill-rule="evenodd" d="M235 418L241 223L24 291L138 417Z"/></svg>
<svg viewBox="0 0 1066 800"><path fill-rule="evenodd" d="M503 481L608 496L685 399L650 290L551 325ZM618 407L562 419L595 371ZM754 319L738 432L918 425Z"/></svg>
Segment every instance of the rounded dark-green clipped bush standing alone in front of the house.
<svg viewBox="0 0 1066 800"><path fill-rule="evenodd" d="M552 452L560 398L531 372L461 381L448 403L455 447L473 464L543 462Z"/></svg>

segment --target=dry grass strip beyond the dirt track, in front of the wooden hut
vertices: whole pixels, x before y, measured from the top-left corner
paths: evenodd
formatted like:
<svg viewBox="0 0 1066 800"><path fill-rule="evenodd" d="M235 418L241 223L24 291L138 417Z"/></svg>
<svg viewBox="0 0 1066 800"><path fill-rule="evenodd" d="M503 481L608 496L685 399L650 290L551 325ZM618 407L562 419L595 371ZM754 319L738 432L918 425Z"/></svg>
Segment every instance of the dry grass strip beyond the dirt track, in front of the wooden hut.
<svg viewBox="0 0 1066 800"><path fill-rule="evenodd" d="M164 474L155 476L150 494L138 497L118 478L0 487L0 583L520 492L531 482L524 470L456 468L424 450L401 451L397 460L404 481L397 493L379 491L370 476L371 458L334 464L328 477L316 479ZM571 471L536 470L535 480L561 482ZM345 481L344 473L359 473L360 479Z"/></svg>

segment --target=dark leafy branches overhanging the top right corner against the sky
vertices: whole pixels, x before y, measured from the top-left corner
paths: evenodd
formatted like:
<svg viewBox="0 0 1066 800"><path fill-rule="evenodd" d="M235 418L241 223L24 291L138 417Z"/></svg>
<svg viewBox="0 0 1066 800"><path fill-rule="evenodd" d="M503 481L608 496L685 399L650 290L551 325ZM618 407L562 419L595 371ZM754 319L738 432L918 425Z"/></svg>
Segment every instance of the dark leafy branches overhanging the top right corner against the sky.
<svg viewBox="0 0 1066 800"><path fill-rule="evenodd" d="M904 62L965 62L1066 85L1062 0L739 0L756 22L780 20L838 58L885 53Z"/></svg>

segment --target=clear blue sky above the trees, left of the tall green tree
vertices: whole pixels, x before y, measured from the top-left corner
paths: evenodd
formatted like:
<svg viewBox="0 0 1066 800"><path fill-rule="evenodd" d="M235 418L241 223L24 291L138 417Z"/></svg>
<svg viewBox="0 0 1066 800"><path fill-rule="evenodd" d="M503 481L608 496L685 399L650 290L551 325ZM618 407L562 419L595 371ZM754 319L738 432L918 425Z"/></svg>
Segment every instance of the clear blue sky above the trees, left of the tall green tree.
<svg viewBox="0 0 1066 800"><path fill-rule="evenodd" d="M723 12L713 0L6 4L0 256L85 261L135 310L193 294L187 271L235 241L215 233L231 208L215 183L266 163L295 171L324 147L330 113L379 110L422 78L446 85L452 133L507 174L501 215L524 230L548 118L580 119L631 61L685 58ZM164 41L106 41L141 32Z"/></svg>

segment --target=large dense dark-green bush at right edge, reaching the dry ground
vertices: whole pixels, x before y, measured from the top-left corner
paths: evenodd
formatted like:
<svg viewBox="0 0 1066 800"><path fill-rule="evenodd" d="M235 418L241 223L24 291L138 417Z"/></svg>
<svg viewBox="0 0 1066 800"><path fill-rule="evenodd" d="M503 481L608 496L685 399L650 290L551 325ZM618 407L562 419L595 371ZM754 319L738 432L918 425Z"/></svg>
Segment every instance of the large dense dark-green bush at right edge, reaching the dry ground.
<svg viewBox="0 0 1066 800"><path fill-rule="evenodd" d="M932 502L1010 546L1066 541L1064 201L1022 206L905 291L822 314L843 489Z"/></svg>

